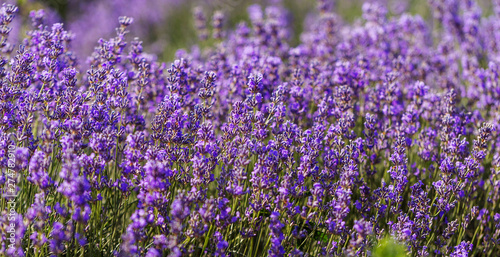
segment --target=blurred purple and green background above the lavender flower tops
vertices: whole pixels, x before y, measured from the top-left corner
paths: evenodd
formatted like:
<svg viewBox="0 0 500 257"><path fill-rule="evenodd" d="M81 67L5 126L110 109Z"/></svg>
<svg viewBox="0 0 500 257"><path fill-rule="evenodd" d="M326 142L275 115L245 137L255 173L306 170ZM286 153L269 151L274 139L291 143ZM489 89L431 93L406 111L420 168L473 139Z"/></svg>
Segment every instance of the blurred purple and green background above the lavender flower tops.
<svg viewBox="0 0 500 257"><path fill-rule="evenodd" d="M330 0L336 12L346 21L355 22L361 17L363 0ZM367 1L367 0L365 0ZM428 1L436 0L371 0L388 6L389 15L403 12L419 14L430 19ZM130 36L139 37L148 53L156 54L162 61L171 61L177 49L189 49L198 42L193 9L201 7L208 22L216 10L225 14L226 28L241 21L248 21L247 8L252 4L282 5L289 11L289 21L294 34L291 44L298 44L304 21L316 15L316 0L7 0L19 7L19 14L10 34L11 43L18 43L29 29L29 13L44 9L45 24L64 23L75 35L73 50L81 61L89 56L99 38L115 34L119 16L131 16L134 24ZM478 1L483 16L492 13L491 0ZM16 42L17 41L17 42ZM83 59L82 59L83 58Z"/></svg>

